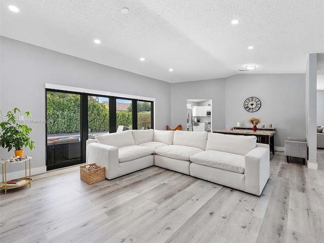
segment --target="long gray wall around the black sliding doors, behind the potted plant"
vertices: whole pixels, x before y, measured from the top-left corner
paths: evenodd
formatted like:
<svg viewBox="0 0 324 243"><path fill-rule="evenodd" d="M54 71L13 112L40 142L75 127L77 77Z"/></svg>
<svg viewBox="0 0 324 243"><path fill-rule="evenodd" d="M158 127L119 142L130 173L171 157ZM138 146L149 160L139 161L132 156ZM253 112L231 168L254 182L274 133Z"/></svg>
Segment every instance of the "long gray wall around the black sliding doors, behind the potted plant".
<svg viewBox="0 0 324 243"><path fill-rule="evenodd" d="M155 129L171 123L171 84L104 66L1 36L0 110L14 107L30 111L33 119L45 119L45 83L156 98ZM185 116L186 117L186 116ZM45 124L28 124L36 148L32 168L45 166ZM0 157L13 155L0 149ZM23 170L22 165L8 172Z"/></svg>

